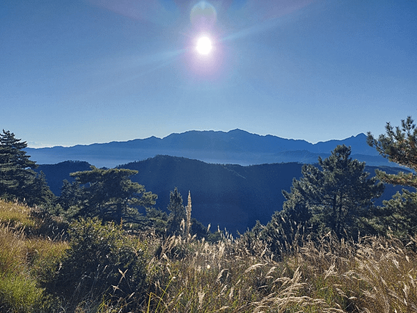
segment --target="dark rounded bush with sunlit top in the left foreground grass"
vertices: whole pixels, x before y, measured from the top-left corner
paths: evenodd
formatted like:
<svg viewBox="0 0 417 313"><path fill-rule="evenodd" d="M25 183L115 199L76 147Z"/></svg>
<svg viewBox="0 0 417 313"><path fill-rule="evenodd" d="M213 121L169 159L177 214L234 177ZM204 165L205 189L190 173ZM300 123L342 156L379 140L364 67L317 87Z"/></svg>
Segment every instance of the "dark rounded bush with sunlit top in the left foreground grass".
<svg viewBox="0 0 417 313"><path fill-rule="evenodd" d="M70 227L70 249L47 291L68 309L86 300L137 300L145 281L143 251L114 223L80 219Z"/></svg>

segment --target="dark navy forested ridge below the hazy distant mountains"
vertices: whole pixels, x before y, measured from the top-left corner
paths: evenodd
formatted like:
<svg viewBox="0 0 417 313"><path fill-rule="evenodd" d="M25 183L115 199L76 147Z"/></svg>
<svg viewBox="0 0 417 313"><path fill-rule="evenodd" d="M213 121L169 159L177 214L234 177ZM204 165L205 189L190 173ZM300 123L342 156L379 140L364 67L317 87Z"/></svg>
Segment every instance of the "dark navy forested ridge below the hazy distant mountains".
<svg viewBox="0 0 417 313"><path fill-rule="evenodd" d="M183 157L157 156L144 161L127 163L118 168L138 170L132 181L143 184L147 191L158 195L156 207L166 209L169 193L175 187L184 201L191 191L192 216L213 227L219 225L231 232L244 232L256 220L267 223L274 211L282 209L282 190L290 191L292 179L301 176L301 163L273 163L254 166L220 165ZM71 180L70 172L88 170L86 162L66 161L55 165L40 165L52 191L58 195L62 180ZM398 172L398 168L383 168ZM365 169L371 175L375 167ZM384 199L396 190L387 186ZM380 202L381 200L379 200Z"/></svg>

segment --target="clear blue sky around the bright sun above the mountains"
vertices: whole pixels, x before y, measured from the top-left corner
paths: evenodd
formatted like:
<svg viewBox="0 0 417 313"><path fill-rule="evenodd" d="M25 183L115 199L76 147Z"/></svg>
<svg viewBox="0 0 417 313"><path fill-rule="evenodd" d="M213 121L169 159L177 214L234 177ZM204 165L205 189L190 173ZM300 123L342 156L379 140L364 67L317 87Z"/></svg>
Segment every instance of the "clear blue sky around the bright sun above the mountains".
<svg viewBox="0 0 417 313"><path fill-rule="evenodd" d="M417 120L416 99L413 0L0 4L0 129L30 147L236 128L316 143Z"/></svg>

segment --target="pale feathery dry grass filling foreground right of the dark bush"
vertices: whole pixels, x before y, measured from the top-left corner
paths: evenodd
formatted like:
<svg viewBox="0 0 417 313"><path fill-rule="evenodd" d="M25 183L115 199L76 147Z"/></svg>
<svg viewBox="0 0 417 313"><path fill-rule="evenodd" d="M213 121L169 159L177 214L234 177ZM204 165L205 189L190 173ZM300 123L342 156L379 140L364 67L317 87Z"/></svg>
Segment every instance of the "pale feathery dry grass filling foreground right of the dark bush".
<svg viewBox="0 0 417 313"><path fill-rule="evenodd" d="M171 237L141 312L417 312L415 243L328 234L276 262L260 242Z"/></svg>

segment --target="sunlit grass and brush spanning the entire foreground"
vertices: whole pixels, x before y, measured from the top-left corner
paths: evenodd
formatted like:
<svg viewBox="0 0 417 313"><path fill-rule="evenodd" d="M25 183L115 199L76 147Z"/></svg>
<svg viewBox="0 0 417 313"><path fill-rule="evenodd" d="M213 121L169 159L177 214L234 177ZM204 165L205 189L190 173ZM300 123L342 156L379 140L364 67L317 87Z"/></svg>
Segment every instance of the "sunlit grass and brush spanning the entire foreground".
<svg viewBox="0 0 417 313"><path fill-rule="evenodd" d="M56 232L51 238L51 232L42 224L45 218L37 218L38 213L34 208L0 202L2 312L417 310L415 238L404 244L398 239L381 236L345 241L326 234L316 241L304 239L304 246L295 246L277 261L265 243L248 235L233 239L223 234L221 240L208 243L204 239L181 236L162 239L149 233L133 235L120 230L118 234L123 236L115 240L124 241L125 247L132 248L140 261L136 274L142 271L144 274L136 275L134 286L128 286L132 268L121 267L136 261L113 259L113 264L107 267L113 266L116 270L112 275L110 271L104 275L99 264L104 264L106 257L111 259L111 251L106 254L100 246L96 252L106 255L95 264L92 283L82 275L77 277L77 266L82 266L85 259L79 262L72 259L74 267L70 273L74 287L63 289L55 284L51 288L57 281L57 271L65 268L71 255L78 253L79 257L94 248L95 234L90 232L66 239ZM77 222L72 227L86 225L96 227L97 236L108 238L116 227L102 226L94 220ZM58 231L63 225L56 223L56 227ZM91 241L84 243L83 251L77 251L77 244L83 239ZM100 240L101 244L103 242L109 243ZM68 286L67 282L65 287ZM104 286L107 286L106 292L101 290ZM135 290L125 293L127 287ZM80 288L82 292L78 292Z"/></svg>

